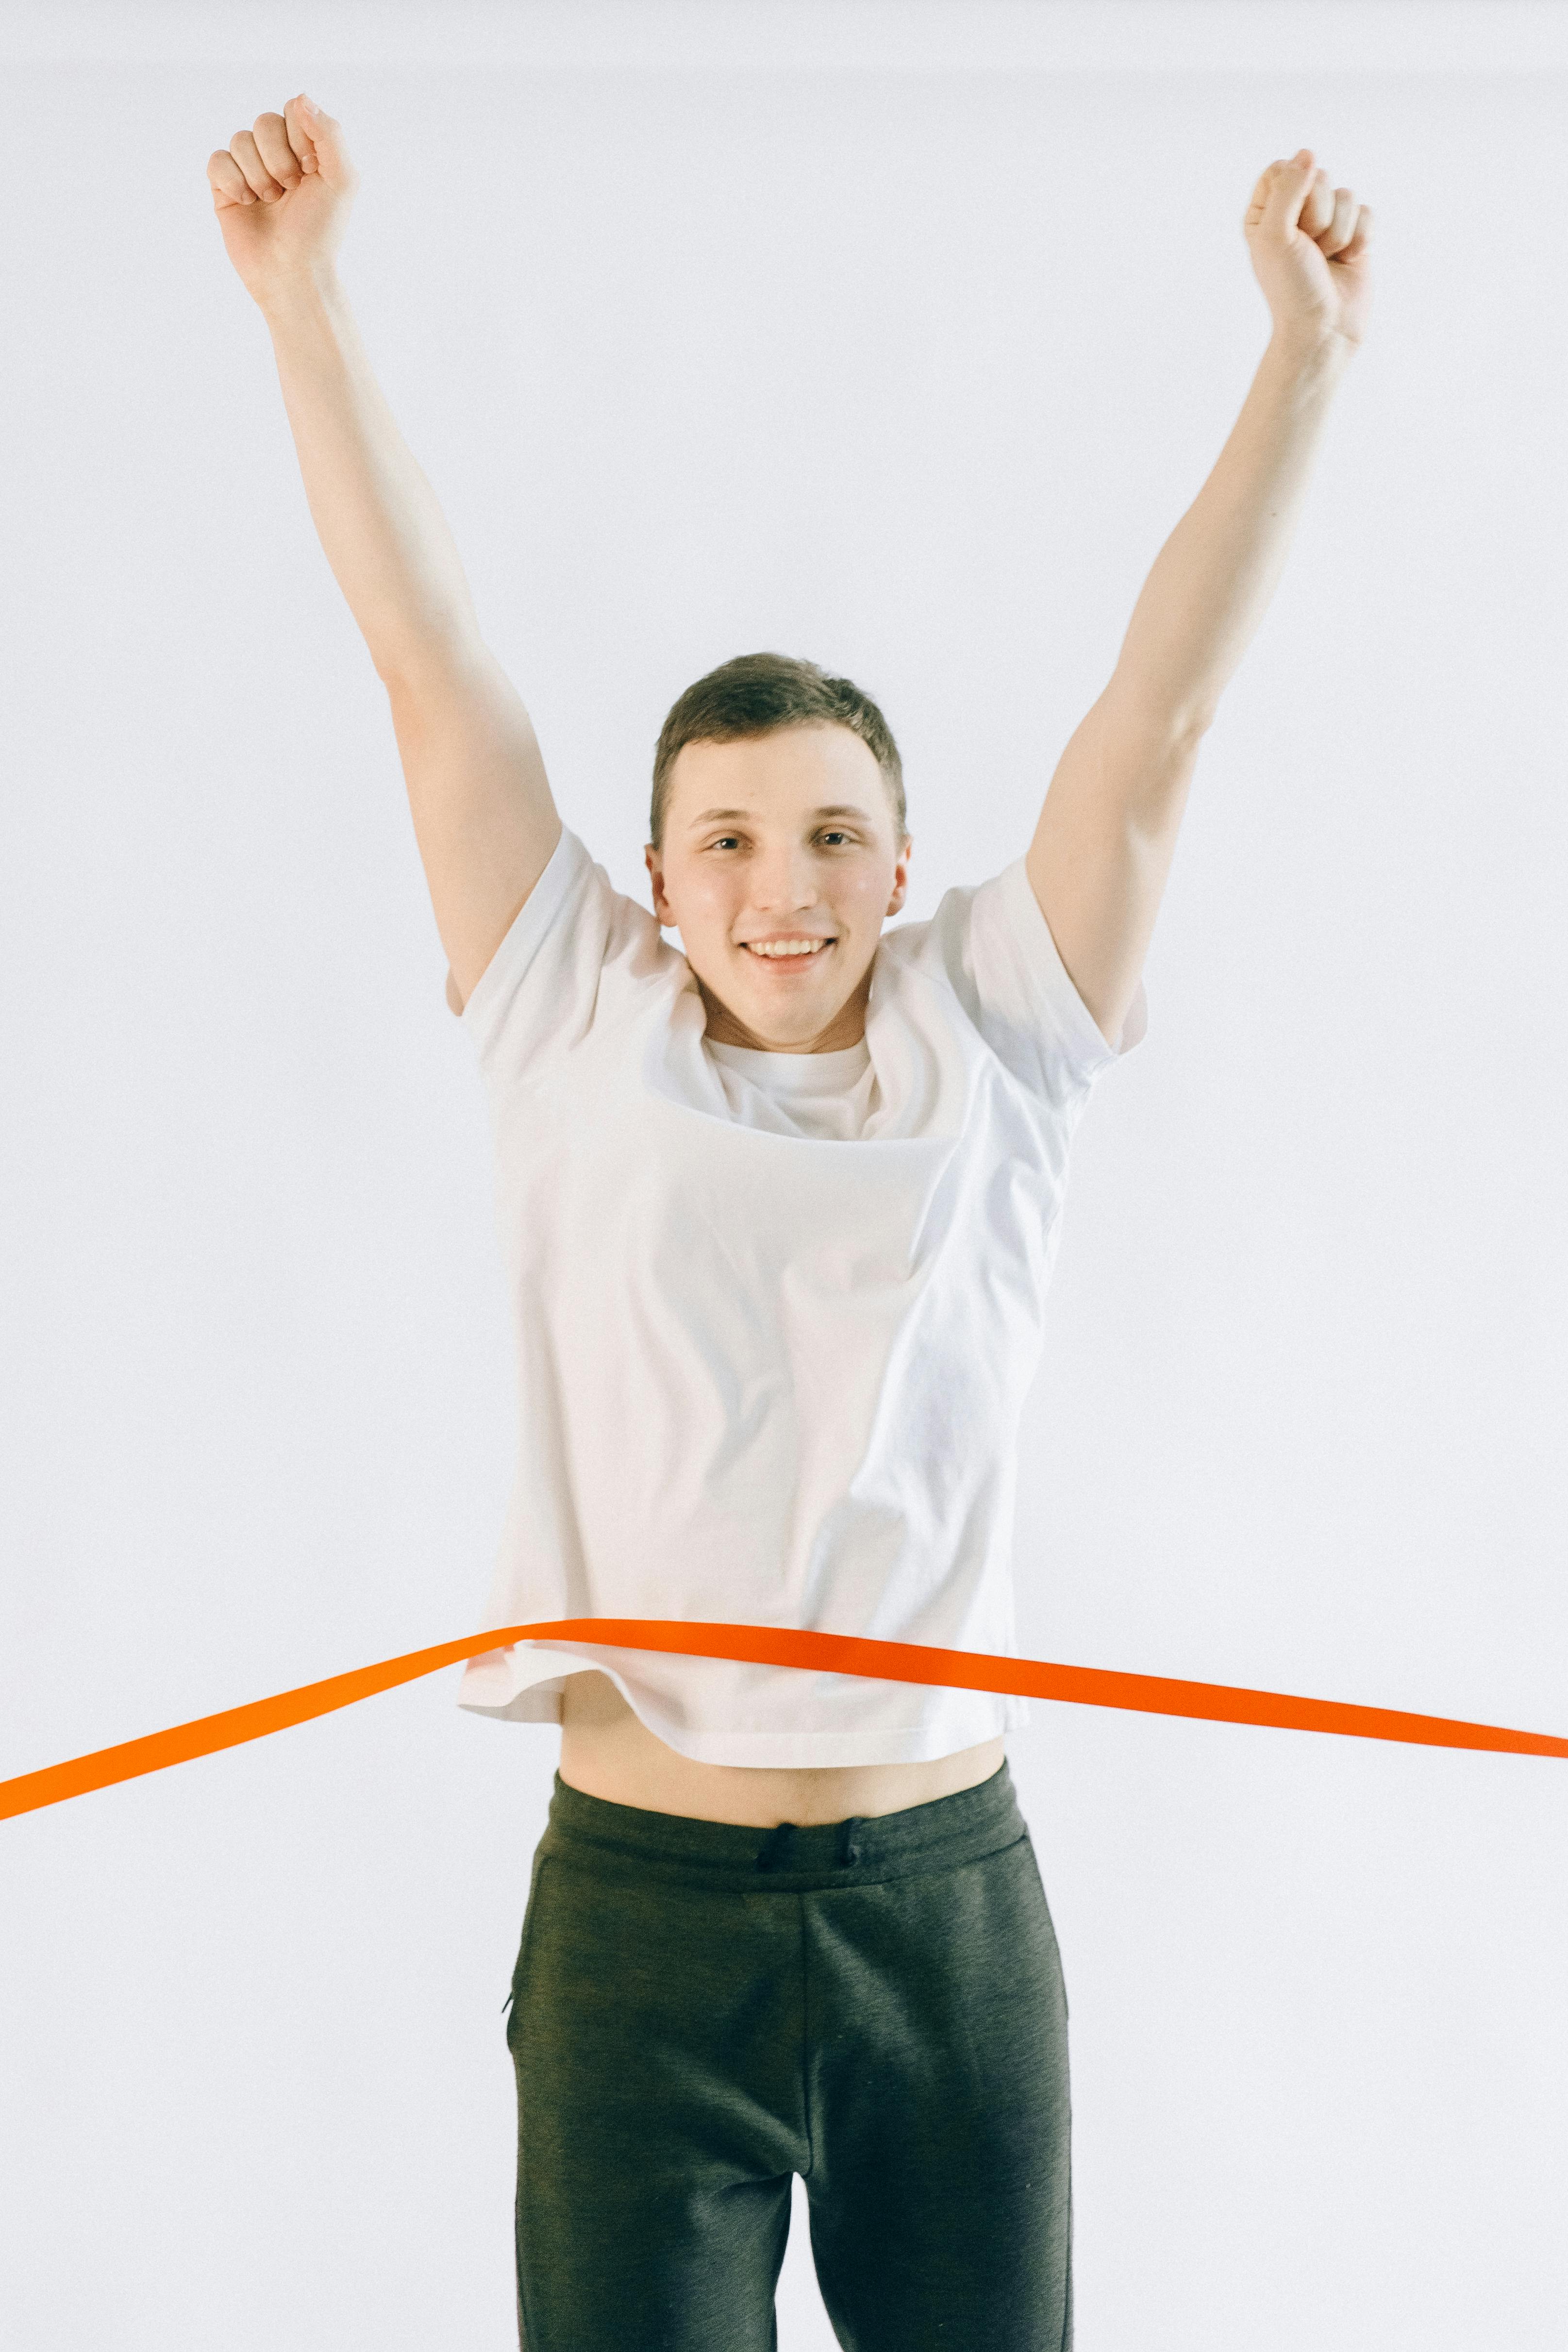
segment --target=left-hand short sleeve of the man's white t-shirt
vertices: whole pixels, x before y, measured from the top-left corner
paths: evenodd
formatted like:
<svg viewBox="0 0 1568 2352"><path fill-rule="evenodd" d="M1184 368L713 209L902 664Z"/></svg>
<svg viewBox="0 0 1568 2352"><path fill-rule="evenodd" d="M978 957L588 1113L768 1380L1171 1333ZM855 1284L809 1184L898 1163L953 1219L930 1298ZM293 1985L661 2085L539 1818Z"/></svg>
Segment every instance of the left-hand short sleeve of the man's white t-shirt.
<svg viewBox="0 0 1568 2352"><path fill-rule="evenodd" d="M550 863L475 981L461 1021L491 1084L541 1075L670 955L658 924L611 887L562 826Z"/></svg>

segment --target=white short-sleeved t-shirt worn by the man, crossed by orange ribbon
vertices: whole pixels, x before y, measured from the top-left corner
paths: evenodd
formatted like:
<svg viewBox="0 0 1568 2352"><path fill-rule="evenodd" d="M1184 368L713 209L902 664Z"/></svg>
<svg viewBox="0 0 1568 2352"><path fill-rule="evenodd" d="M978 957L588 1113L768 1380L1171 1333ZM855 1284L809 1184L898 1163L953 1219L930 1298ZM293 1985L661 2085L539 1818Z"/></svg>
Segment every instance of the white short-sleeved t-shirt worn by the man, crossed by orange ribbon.
<svg viewBox="0 0 1568 2352"><path fill-rule="evenodd" d="M1143 990L1121 1051L1145 1030ZM1117 1051L1018 858L882 934L865 1040L710 1044L696 976L562 830L477 981L517 1348L484 1625L708 1618L1013 1649L1018 1418L1067 1145ZM609 1672L705 1764L893 1764L1025 1700L520 1642L458 1705Z"/></svg>

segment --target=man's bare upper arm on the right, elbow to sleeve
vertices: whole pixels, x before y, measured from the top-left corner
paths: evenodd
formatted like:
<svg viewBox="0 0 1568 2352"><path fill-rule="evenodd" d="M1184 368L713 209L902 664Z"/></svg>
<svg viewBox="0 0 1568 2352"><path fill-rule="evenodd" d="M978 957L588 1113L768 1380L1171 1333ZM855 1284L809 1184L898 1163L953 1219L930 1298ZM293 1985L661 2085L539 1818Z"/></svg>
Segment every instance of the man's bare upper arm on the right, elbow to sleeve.
<svg viewBox="0 0 1568 2352"><path fill-rule="evenodd" d="M1025 858L1072 985L1114 1042L1138 995L1201 731L1145 720L1114 682L1063 753Z"/></svg>

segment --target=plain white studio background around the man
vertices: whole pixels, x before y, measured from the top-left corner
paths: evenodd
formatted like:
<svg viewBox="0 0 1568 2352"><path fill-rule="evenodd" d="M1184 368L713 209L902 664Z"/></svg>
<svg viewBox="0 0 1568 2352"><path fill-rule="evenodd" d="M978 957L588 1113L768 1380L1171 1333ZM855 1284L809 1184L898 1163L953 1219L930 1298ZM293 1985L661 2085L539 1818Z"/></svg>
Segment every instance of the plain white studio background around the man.
<svg viewBox="0 0 1568 2352"><path fill-rule="evenodd" d="M1020 1649L1568 1731L1559 7L14 7L0 1776L477 1628L489 1131L381 687L205 162L310 89L557 802L778 647L900 739L910 915L1030 840L1267 339L1375 320L1079 1131ZM0 1830L16 2352L503 2352L555 1769L456 1670ZM1547 2352L1568 1766L1034 1708L1079 2352ZM785 2352L830 2345L802 2216ZM630 2352L630 2347L628 2347Z"/></svg>

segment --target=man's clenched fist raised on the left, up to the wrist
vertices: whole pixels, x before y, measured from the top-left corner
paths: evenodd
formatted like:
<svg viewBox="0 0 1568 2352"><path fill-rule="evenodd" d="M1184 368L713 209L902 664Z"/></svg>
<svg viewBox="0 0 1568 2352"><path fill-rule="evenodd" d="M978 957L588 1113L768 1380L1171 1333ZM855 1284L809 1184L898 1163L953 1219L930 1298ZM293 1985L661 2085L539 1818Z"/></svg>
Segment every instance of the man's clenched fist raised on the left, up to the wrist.
<svg viewBox="0 0 1568 2352"><path fill-rule="evenodd" d="M259 303L331 263L360 174L343 132L301 92L280 115L256 115L207 158L212 209L240 280Z"/></svg>

